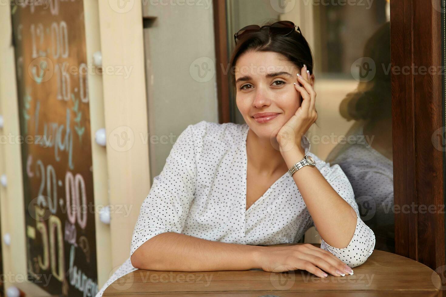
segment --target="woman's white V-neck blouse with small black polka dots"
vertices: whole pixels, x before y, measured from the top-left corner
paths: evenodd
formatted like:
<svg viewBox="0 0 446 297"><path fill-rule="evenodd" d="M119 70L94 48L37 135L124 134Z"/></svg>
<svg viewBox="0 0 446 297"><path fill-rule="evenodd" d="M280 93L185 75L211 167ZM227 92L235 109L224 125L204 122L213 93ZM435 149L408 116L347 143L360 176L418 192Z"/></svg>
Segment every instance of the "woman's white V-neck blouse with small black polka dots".
<svg viewBox="0 0 446 297"><path fill-rule="evenodd" d="M182 132L142 203L130 255L141 244L163 232L225 243L271 245L297 243L314 226L288 172L246 210L248 130L247 124L201 121ZM339 165L330 167L310 152L307 138L302 140L302 147L314 158L316 167L330 185L357 213L355 234L346 248L331 247L323 239L321 248L350 267L362 264L372 254L375 236L359 218L351 184ZM126 267L127 273L135 270L131 263L128 266L128 261ZM120 273L126 274L125 271Z"/></svg>

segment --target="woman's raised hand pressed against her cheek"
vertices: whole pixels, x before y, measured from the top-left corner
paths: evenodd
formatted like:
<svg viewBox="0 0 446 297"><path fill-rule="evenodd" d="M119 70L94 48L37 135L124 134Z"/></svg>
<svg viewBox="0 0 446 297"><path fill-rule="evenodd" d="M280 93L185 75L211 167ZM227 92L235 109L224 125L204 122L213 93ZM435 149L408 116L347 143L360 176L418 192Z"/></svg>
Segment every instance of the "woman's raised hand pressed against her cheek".
<svg viewBox="0 0 446 297"><path fill-rule="evenodd" d="M295 88L302 96L302 105L296 110L296 113L285 123L277 132L277 142L281 151L289 151L297 146L301 151L301 139L308 131L310 126L318 118L318 114L314 107L316 101L316 92L310 84L310 74L307 68L302 67L300 76L297 76L297 82L294 83ZM302 85L299 85L299 83Z"/></svg>

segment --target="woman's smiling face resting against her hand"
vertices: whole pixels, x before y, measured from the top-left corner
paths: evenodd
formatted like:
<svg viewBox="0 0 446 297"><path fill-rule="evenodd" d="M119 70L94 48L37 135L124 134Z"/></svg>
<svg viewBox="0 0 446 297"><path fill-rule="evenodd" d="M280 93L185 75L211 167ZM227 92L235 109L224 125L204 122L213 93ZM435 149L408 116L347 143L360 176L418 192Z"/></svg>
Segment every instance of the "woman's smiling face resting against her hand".
<svg viewBox="0 0 446 297"><path fill-rule="evenodd" d="M293 63L273 52L246 52L235 65L236 103L245 122L259 138L275 139L280 128L301 106ZM274 113L255 119L258 113ZM257 117L257 116L256 116Z"/></svg>

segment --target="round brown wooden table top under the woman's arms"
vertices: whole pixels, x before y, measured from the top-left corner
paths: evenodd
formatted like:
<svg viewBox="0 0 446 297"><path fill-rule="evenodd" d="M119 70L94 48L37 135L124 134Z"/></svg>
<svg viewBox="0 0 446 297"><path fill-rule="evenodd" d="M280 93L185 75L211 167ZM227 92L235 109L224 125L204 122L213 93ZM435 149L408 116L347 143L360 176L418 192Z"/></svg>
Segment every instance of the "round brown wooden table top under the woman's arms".
<svg viewBox="0 0 446 297"><path fill-rule="evenodd" d="M281 244L289 245L289 244ZM319 246L314 244L315 246ZM277 245L274 245L277 246ZM409 258L373 251L353 275L319 278L294 270L178 272L138 269L113 282L103 296L442 296L446 289L429 267Z"/></svg>

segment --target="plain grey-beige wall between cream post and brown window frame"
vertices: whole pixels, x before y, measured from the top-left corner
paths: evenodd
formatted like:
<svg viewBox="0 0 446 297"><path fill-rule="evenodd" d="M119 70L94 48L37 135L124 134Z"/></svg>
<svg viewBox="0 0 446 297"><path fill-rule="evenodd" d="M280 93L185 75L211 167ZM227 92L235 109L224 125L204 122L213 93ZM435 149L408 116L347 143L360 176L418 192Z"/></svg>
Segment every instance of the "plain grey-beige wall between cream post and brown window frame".
<svg viewBox="0 0 446 297"><path fill-rule="evenodd" d="M157 3L143 1L143 15L153 17L144 29L149 132L153 136L149 141L150 184L164 167L173 142L188 125L219 121L212 64L212 2L196 1L202 5L192 6L152 2Z"/></svg>

